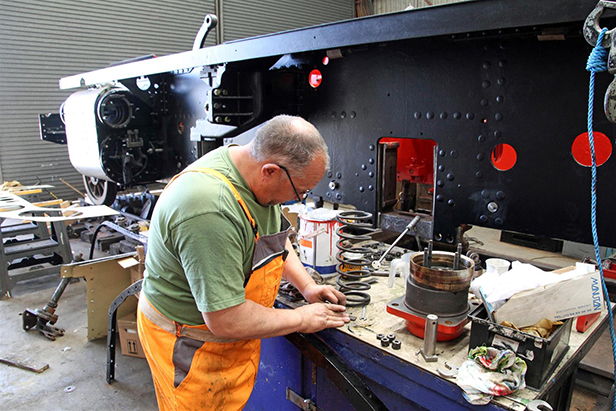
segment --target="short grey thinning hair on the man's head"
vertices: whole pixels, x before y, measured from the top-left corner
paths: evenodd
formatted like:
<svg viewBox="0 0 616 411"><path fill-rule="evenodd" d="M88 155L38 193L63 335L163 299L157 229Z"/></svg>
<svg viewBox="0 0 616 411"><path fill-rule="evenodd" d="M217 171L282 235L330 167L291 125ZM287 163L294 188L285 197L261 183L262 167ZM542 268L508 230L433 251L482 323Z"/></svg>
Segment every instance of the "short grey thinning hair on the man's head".
<svg viewBox="0 0 616 411"><path fill-rule="evenodd" d="M279 115L266 122L250 143L250 155L257 161L279 163L301 172L317 156L325 156L327 145L321 133L301 117Z"/></svg>

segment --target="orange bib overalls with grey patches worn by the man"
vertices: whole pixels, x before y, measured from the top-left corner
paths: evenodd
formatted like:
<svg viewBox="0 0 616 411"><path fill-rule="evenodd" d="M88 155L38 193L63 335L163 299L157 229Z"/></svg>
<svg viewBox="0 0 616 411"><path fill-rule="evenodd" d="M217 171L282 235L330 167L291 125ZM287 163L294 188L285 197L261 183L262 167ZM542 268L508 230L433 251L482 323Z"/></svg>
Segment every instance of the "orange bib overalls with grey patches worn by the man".
<svg viewBox="0 0 616 411"><path fill-rule="evenodd" d="M246 203L224 175L207 168L185 172L210 174L233 191L255 232L252 272L244 287L246 299L272 307L287 256L289 222L282 217L282 231L260 237ZM257 377L261 340L228 340L216 337L205 324L179 324L156 310L143 293L137 327L159 409L241 410L246 405Z"/></svg>

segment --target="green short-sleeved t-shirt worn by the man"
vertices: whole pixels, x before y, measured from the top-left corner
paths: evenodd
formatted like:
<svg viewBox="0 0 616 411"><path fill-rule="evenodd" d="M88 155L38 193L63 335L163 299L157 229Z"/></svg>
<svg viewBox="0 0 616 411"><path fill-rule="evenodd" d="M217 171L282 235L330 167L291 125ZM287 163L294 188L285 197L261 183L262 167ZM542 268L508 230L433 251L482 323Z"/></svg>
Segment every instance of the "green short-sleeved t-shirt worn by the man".
<svg viewBox="0 0 616 411"><path fill-rule="evenodd" d="M279 206L262 206L231 161L227 147L211 151L188 168L212 168L236 187L260 235L280 231ZM149 232L143 292L168 318L203 324L201 312L245 301L255 237L233 192L199 172L178 177L160 196Z"/></svg>

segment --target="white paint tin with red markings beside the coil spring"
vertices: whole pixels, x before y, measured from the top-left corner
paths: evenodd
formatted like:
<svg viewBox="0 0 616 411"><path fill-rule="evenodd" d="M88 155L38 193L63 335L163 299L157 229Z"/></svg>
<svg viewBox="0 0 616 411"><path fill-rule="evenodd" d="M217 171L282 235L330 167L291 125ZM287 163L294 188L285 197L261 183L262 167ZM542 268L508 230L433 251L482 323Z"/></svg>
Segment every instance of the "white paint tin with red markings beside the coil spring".
<svg viewBox="0 0 616 411"><path fill-rule="evenodd" d="M337 210L317 208L299 218L299 259L323 277L336 274L336 243L340 239L336 229L341 226L337 215Z"/></svg>

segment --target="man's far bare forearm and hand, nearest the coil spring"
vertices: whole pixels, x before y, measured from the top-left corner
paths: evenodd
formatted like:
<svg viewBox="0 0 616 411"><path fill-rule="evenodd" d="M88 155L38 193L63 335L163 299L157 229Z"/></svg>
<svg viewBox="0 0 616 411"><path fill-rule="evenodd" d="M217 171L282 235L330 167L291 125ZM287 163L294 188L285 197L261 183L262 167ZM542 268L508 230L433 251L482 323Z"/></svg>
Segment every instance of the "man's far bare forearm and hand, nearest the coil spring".
<svg viewBox="0 0 616 411"><path fill-rule="evenodd" d="M282 277L293 284L309 303L330 302L334 304L346 304L346 296L331 285L318 285L310 277L304 265L295 254L291 241L287 239L289 256L284 264Z"/></svg>

